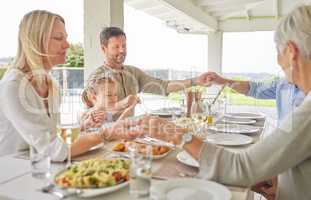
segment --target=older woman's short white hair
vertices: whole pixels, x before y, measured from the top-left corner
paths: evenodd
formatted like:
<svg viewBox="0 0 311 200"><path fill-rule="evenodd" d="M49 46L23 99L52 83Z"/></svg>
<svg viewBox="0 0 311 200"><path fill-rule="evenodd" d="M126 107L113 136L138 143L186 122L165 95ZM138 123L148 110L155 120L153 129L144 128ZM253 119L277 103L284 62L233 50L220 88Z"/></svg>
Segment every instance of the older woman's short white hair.
<svg viewBox="0 0 311 200"><path fill-rule="evenodd" d="M311 59L311 6L300 6L282 18L275 30L274 41L278 53L292 41L305 58Z"/></svg>

